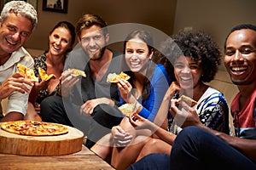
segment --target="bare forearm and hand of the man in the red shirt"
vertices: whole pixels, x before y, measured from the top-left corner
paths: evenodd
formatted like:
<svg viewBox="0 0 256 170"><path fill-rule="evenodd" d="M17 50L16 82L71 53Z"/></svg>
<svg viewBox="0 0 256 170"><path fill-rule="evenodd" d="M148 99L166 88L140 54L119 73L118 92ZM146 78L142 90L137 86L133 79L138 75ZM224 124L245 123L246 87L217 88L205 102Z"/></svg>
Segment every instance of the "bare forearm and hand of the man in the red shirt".
<svg viewBox="0 0 256 170"><path fill-rule="evenodd" d="M188 127L188 126L197 126L201 128L207 129L210 133L218 136L218 138L223 139L227 144L235 147L237 150L241 150L243 154L251 158L253 161L256 161L256 140L255 139L241 139L238 137L230 136L226 133L221 133L212 128L204 126L199 116L197 115L195 109L189 107L185 102L181 102L184 111L180 111L176 106L176 100L172 99L171 103L171 112L172 116L175 119L178 119L179 122L182 124L181 127Z"/></svg>

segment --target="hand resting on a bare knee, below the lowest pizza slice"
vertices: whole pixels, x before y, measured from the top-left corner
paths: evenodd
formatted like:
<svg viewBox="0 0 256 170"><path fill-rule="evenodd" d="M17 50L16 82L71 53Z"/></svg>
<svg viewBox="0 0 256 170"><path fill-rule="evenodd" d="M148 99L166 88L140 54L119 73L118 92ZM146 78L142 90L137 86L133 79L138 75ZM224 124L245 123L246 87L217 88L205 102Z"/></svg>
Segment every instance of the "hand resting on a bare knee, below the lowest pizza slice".
<svg viewBox="0 0 256 170"><path fill-rule="evenodd" d="M112 127L111 133L116 147L125 147L131 143L132 135L120 126Z"/></svg>

